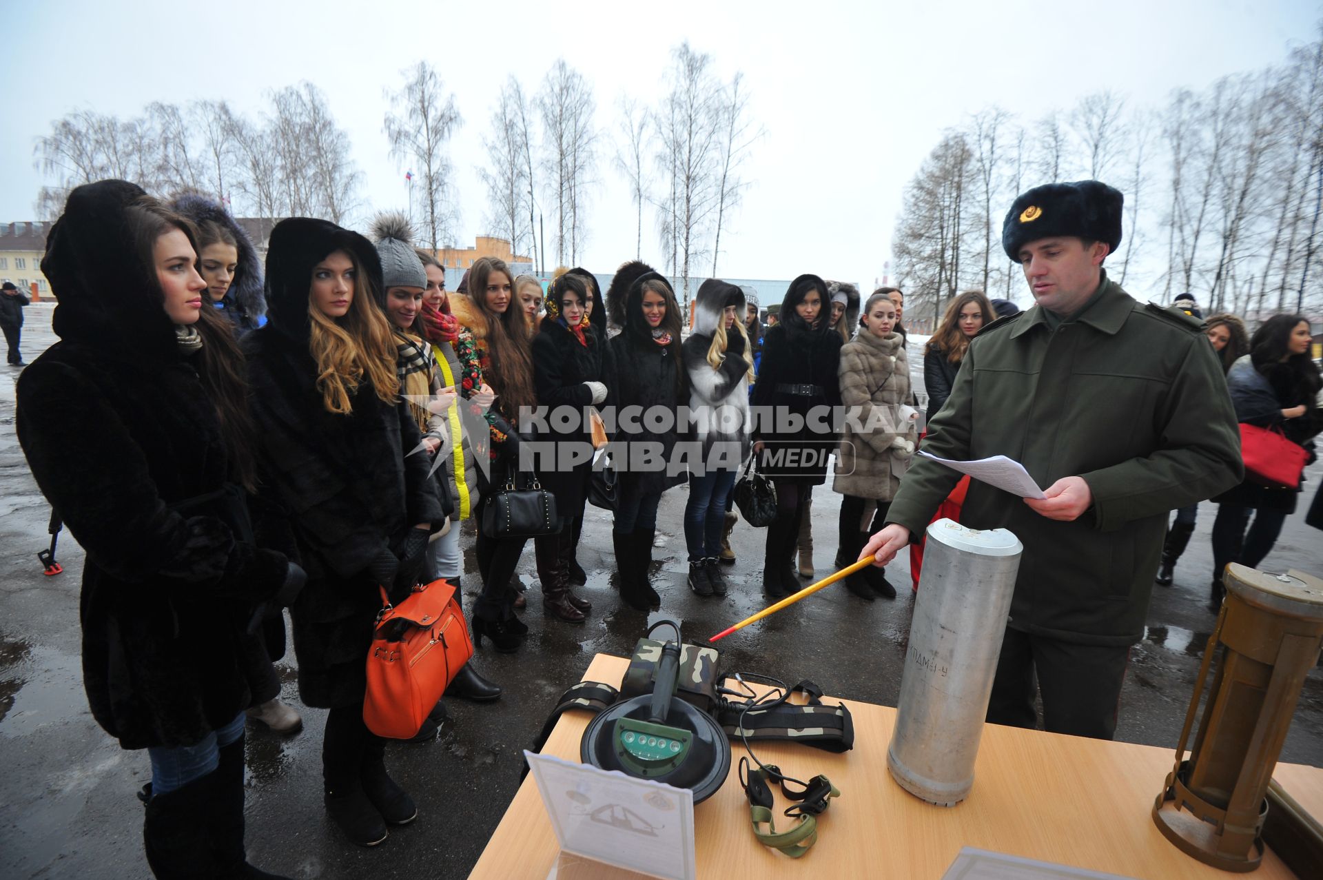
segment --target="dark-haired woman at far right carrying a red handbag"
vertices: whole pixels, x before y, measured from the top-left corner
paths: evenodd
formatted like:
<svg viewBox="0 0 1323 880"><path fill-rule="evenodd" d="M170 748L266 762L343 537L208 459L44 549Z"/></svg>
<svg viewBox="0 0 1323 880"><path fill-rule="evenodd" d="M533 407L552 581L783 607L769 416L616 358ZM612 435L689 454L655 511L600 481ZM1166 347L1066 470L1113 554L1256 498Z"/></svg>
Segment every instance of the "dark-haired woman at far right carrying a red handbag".
<svg viewBox="0 0 1323 880"><path fill-rule="evenodd" d="M1286 439L1304 447L1307 462L1316 459L1314 438L1323 430L1323 413L1318 406L1323 377L1310 357L1312 344L1314 335L1303 315L1273 315L1254 331L1249 355L1226 373L1236 419L1279 429ZM1286 488L1262 486L1246 475L1240 486L1213 499L1217 520L1213 523L1211 610L1221 607L1226 593L1222 586L1226 565L1240 562L1258 568L1277 543L1282 523L1295 512L1295 499L1302 491L1303 479L1301 486Z"/></svg>

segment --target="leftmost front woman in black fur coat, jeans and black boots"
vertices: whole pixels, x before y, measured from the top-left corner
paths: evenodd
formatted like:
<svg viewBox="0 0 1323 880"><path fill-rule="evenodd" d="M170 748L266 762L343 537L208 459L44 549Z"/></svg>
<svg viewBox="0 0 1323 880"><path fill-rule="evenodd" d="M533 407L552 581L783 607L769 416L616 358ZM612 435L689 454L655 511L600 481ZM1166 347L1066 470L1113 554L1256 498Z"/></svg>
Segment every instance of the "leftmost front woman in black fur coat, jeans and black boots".
<svg viewBox="0 0 1323 880"><path fill-rule="evenodd" d="M270 877L243 855L243 709L270 666L250 621L302 572L255 547L241 359L196 262L191 225L135 184L74 189L41 262L61 341L19 378L17 433L87 552L93 717L151 756L152 872Z"/></svg>

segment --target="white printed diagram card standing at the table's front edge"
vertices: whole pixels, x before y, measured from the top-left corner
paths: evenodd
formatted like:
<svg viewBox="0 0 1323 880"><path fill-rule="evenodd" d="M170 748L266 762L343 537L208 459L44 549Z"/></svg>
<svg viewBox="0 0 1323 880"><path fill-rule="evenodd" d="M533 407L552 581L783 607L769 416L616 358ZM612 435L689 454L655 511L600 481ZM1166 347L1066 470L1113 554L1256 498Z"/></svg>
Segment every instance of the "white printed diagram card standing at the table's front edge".
<svg viewBox="0 0 1323 880"><path fill-rule="evenodd" d="M524 752L562 852L695 880L693 791Z"/></svg>

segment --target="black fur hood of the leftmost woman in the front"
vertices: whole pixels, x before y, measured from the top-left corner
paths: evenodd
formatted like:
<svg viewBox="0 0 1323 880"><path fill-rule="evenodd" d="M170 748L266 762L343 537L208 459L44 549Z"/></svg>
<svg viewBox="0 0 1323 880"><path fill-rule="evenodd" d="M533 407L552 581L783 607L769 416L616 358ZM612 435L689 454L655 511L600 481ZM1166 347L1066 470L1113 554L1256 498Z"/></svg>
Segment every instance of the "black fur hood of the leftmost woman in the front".
<svg viewBox="0 0 1323 880"><path fill-rule="evenodd" d="M52 320L61 339L135 357L177 357L160 283L138 254L126 216L146 195L124 180L83 184L69 193L41 261L60 300Z"/></svg>

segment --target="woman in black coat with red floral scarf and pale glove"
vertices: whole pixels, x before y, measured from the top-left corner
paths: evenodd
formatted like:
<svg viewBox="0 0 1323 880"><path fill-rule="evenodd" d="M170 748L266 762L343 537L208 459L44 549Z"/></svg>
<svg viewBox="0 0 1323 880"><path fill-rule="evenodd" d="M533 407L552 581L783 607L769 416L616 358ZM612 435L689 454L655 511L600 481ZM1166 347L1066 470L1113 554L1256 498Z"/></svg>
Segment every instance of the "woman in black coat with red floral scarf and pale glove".
<svg viewBox="0 0 1323 880"><path fill-rule="evenodd" d="M545 406L546 431L540 431L537 478L556 496L561 531L534 539L537 576L542 581L542 609L569 623L582 623L593 605L574 594L570 562L574 558L576 520L583 521L583 504L593 471L593 435L583 419L589 406L606 400L606 369L602 339L586 314L587 283L565 274L546 291L546 315L533 337L533 385L537 405ZM573 410L569 427L557 427L552 414ZM582 461L578 461L582 459Z"/></svg>

